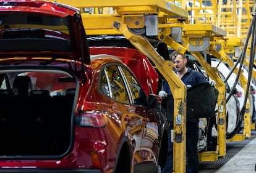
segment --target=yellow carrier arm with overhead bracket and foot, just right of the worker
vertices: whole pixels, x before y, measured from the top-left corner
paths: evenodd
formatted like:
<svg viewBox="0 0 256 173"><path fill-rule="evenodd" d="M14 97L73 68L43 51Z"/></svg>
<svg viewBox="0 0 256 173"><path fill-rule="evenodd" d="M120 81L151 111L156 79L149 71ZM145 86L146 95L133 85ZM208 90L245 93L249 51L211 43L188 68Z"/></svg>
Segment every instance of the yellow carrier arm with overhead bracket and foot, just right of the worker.
<svg viewBox="0 0 256 173"><path fill-rule="evenodd" d="M226 85L216 73L216 68L212 68L200 52L210 54L211 46L218 44L215 39L226 36L226 31L211 24L194 24L184 25L182 34L184 46L197 58L210 78L216 81L216 89L219 91L216 122L218 124L218 146L216 146L216 151L198 153L200 161L216 161L226 155Z"/></svg>

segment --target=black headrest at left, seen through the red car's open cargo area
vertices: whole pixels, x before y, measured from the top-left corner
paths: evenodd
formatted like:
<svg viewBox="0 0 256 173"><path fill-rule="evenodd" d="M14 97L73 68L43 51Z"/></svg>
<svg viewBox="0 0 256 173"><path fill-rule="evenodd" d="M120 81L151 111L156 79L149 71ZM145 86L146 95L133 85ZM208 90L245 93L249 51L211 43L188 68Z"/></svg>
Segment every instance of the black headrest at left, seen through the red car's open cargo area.
<svg viewBox="0 0 256 173"><path fill-rule="evenodd" d="M16 76L12 87L15 89L15 95L28 95L32 82L29 76Z"/></svg>

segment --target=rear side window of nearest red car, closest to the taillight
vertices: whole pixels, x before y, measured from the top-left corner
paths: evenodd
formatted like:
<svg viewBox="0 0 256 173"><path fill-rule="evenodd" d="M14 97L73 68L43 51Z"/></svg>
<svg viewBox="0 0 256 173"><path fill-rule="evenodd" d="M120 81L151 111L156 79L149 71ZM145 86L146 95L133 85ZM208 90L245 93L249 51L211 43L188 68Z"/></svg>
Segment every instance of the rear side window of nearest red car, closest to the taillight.
<svg viewBox="0 0 256 173"><path fill-rule="evenodd" d="M124 84L124 79L117 66L106 66L104 71L104 74L101 75L100 90L117 102L129 104L129 96ZM107 81L109 84L106 83Z"/></svg>

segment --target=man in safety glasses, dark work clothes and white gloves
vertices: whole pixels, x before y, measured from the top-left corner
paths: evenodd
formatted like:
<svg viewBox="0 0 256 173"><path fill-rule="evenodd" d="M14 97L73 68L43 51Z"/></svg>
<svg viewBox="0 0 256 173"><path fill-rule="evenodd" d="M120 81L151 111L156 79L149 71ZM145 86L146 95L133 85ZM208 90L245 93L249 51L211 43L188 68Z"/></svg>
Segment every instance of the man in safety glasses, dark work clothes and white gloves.
<svg viewBox="0 0 256 173"><path fill-rule="evenodd" d="M197 84L207 82L207 79L203 76L203 74L195 70L192 70L191 68L186 66L186 63L187 63L186 55L182 55L179 52L174 51L173 54L171 55L171 58L174 63L175 73L182 80L182 82L184 82L187 88L195 86ZM211 84L211 86L215 86L216 84L215 81L209 81L209 83ZM169 88L168 82L165 82L163 86L163 90L159 92L159 95L164 99L168 96L168 94L171 94L171 89ZM186 172L187 173L198 173L198 169L199 169L198 151L197 151L198 120L199 120L198 118L190 118L189 115L187 115L187 127L186 127L187 129L186 131L187 171ZM168 151L173 151L173 144L171 144L171 148L168 148ZM173 159L173 156L169 156L168 159ZM173 172L173 160L172 161L168 160L168 164L169 164L169 169L167 167L164 168L168 170L168 171L163 170L165 171L164 173Z"/></svg>

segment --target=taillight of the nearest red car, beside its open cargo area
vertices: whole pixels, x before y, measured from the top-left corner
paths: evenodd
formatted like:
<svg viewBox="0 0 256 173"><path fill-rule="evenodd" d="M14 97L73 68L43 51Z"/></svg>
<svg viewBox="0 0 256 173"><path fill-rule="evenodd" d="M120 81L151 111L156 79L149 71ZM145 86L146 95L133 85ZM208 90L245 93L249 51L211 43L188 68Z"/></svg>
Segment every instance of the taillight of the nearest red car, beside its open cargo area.
<svg viewBox="0 0 256 173"><path fill-rule="evenodd" d="M80 126L104 127L108 123L106 111L84 111L81 113Z"/></svg>

